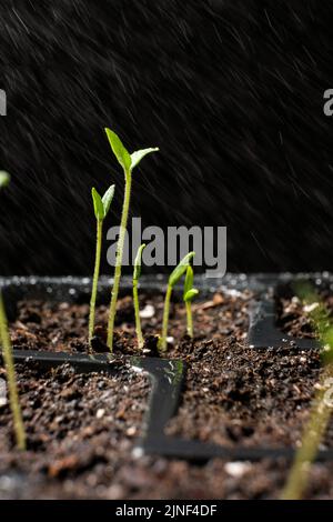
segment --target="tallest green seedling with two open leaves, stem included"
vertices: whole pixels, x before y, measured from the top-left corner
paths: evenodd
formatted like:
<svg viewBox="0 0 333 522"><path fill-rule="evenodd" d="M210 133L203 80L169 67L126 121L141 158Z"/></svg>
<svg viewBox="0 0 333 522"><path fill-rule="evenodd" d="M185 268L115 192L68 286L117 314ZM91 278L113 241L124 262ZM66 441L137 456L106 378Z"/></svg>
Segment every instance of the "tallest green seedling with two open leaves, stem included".
<svg viewBox="0 0 333 522"><path fill-rule="evenodd" d="M112 288L112 294L111 294L110 314L109 314L109 323L108 323L108 347L110 351L112 352L114 318L115 318L115 311L117 311L117 300L118 300L119 284L120 284L120 278L121 278L123 247L124 247L125 231L127 231L127 225L128 225L128 217L129 217L130 200L131 200L132 171L147 154L150 154L151 152L155 152L159 149L158 148L142 149L130 154L129 151L124 148L124 145L120 141L119 137L115 134L115 132L113 132L110 129L105 129L105 132L110 142L111 149L113 151L113 154L115 155L118 162L122 167L122 170L124 173L124 181L125 181L120 231L119 231L119 239L118 239L118 244L117 244L113 288Z"/></svg>

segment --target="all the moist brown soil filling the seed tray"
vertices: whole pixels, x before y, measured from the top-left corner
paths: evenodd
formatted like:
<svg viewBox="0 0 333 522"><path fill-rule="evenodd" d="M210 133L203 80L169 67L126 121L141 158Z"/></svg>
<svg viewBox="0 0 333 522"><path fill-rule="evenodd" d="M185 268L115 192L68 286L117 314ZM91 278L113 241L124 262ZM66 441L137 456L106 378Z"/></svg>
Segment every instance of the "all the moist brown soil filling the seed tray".
<svg viewBox="0 0 333 522"><path fill-rule="evenodd" d="M165 357L186 361L188 374L171 435L230 448L297 446L320 380L316 351L253 350L246 345L249 292L218 292L194 302L195 337L185 334L183 304L171 308ZM144 355L158 357L163 297L141 295ZM27 301L11 323L14 349L85 352L89 307ZM104 344L107 307L97 311L93 348ZM148 403L145 375L121 354L140 354L130 297L119 303L114 353L117 374L79 375L68 367L41 372L18 365L28 451L14 449L8 405L0 409L0 498L40 499L265 499L279 498L290 463L189 463L135 458ZM0 379L4 378L1 370ZM332 446L329 426L323 448ZM307 498L332 498L333 464L313 465Z"/></svg>

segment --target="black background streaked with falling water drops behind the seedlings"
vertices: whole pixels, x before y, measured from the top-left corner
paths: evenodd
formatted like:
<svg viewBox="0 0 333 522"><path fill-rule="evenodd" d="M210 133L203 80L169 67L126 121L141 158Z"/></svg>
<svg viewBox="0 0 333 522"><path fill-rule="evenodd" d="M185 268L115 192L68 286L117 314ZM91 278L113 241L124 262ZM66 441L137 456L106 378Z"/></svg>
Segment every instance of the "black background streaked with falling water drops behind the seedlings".
<svg viewBox="0 0 333 522"><path fill-rule="evenodd" d="M110 225L123 193L105 126L161 149L144 225L226 225L231 271L331 269L332 27L330 0L1 2L0 273L91 273L90 189L117 183Z"/></svg>

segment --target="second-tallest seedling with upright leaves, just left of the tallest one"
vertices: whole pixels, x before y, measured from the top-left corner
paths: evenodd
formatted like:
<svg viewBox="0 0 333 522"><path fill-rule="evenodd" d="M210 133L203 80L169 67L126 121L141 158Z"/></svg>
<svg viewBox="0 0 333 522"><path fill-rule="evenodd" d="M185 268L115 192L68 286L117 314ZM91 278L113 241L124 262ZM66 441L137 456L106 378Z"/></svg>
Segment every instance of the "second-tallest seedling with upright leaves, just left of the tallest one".
<svg viewBox="0 0 333 522"><path fill-rule="evenodd" d="M89 347L91 350L91 339L94 331L94 314L95 314L95 299L98 292L98 282L100 275L100 265L101 265L101 251L102 251L102 231L103 231L103 221L107 218L110 205L114 195L114 184L107 190L103 198L100 197L95 189L91 190L93 210L97 219L97 247L95 247L95 261L94 261L94 271L92 279L92 291L90 300L90 315L89 315Z"/></svg>

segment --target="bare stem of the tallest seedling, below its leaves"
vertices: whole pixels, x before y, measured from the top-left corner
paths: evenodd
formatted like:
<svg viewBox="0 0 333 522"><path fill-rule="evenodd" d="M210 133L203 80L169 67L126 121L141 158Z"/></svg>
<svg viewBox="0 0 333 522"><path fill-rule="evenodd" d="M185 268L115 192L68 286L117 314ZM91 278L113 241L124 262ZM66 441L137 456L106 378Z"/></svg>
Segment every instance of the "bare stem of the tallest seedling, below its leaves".
<svg viewBox="0 0 333 522"><path fill-rule="evenodd" d="M129 217L130 200L131 200L131 185L132 185L131 171L128 171L124 174L125 174L125 190L124 190L124 199L123 199L123 205L122 205L119 240L118 240L118 245L117 245L114 280L113 280L113 287L112 287L112 292L111 292L111 304L110 304L110 314L109 314L109 323L108 323L108 347L111 353L113 351L114 318L115 318L115 312L117 312L117 300L118 300L119 283L120 283L120 278L121 278L123 247L124 247L125 232L127 232L127 225L128 225L128 217Z"/></svg>

